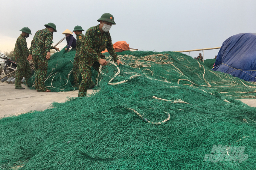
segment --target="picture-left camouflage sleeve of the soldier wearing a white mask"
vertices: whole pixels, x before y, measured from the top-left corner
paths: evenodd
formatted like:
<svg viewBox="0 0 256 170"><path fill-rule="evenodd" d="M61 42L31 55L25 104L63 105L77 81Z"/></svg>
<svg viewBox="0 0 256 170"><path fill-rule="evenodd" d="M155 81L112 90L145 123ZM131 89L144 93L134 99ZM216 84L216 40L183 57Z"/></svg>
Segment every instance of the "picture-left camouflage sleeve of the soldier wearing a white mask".
<svg viewBox="0 0 256 170"><path fill-rule="evenodd" d="M95 50L93 50L93 39L91 38L90 35L90 30L87 30L85 33L85 51L87 52L87 54L94 60L94 61L98 61L99 59L101 59L98 54L96 53Z"/></svg>

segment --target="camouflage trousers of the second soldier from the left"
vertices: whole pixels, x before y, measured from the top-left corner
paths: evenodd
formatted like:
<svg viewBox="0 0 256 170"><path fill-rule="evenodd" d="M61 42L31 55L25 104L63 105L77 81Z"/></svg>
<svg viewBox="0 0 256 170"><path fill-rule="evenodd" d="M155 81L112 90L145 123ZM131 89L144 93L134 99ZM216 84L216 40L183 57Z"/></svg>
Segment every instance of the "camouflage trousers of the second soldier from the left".
<svg viewBox="0 0 256 170"><path fill-rule="evenodd" d="M45 92L48 90L44 84L47 68L48 59L45 56L33 56L35 66L35 89L38 92Z"/></svg>

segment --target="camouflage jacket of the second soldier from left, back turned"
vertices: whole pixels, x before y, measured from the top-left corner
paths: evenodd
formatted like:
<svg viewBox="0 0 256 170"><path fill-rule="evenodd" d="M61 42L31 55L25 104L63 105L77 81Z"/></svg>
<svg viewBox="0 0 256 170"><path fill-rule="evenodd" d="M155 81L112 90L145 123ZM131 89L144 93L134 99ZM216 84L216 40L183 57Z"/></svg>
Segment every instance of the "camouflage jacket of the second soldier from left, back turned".
<svg viewBox="0 0 256 170"><path fill-rule="evenodd" d="M50 52L53 34L46 28L35 33L31 41L30 54L32 56L46 56Z"/></svg>

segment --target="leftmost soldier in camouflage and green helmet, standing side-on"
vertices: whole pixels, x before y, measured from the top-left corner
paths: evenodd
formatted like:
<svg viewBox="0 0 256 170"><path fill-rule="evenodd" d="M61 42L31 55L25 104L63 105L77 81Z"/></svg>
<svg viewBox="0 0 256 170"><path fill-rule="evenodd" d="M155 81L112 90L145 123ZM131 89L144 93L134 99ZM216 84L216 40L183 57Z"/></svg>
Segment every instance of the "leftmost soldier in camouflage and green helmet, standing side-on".
<svg viewBox="0 0 256 170"><path fill-rule="evenodd" d="M22 33L18 37L14 48L14 61L17 62L15 89L25 89L21 86L21 79L24 76L27 83L31 76L31 69L29 62L27 61L27 57L29 56L30 52L27 48L26 42L26 38L29 37L29 34L31 34L31 30L24 27L20 31L22 31Z"/></svg>

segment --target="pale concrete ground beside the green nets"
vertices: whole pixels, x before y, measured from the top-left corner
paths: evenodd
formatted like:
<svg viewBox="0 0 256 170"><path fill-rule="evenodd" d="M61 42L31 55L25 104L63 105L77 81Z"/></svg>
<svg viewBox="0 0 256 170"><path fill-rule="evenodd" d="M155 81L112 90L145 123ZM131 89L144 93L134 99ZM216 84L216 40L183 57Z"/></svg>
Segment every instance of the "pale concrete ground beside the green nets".
<svg viewBox="0 0 256 170"><path fill-rule="evenodd" d="M70 92L49 92L40 93L28 89L15 90L14 84L7 84L0 81L0 118L4 116L18 115L32 110L45 110L52 102L65 102L68 96L77 97L78 90ZM92 93L93 90L88 90ZM256 99L241 99L245 104L256 107Z"/></svg>

